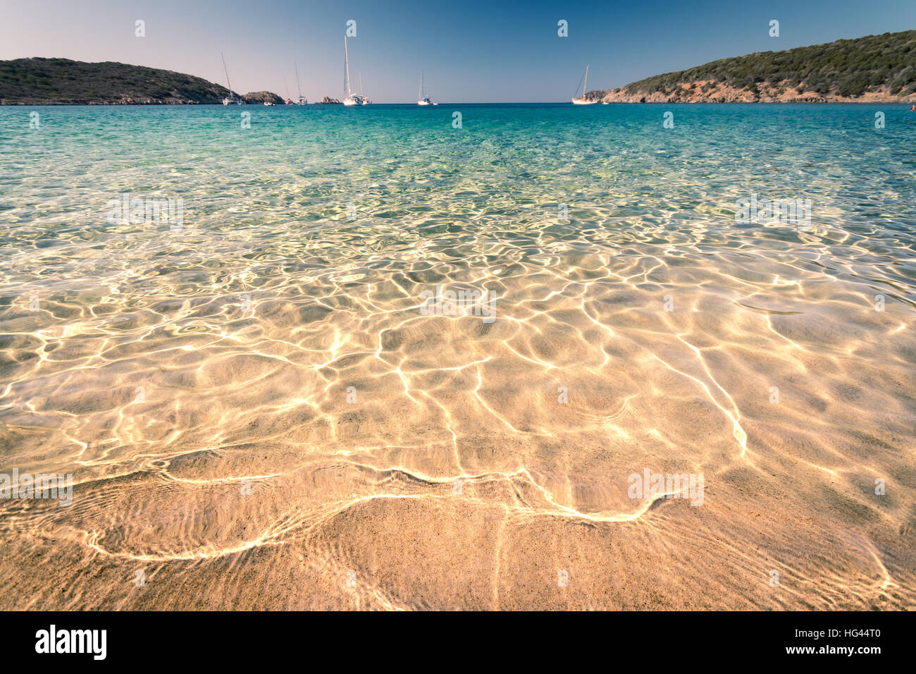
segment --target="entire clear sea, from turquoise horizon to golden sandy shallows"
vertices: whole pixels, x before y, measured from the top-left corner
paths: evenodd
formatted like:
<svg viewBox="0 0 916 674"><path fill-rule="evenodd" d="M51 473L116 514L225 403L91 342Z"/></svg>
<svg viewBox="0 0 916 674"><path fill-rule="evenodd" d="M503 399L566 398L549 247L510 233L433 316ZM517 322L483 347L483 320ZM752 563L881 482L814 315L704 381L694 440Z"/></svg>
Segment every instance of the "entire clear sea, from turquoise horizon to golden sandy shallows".
<svg viewBox="0 0 916 674"><path fill-rule="evenodd" d="M0 608L916 607L912 121L0 109Z"/></svg>

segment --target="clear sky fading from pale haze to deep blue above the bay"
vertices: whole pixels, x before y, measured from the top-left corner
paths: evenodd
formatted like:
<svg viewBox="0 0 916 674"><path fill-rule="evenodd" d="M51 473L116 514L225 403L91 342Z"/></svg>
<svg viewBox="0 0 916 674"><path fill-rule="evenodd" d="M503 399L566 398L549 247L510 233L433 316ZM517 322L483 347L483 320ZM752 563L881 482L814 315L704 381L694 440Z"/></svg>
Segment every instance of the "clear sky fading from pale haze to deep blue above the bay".
<svg viewBox="0 0 916 674"><path fill-rule="evenodd" d="M354 82L376 103L416 100L420 69L442 103L568 101L589 89L753 51L916 28L916 0L0 0L0 59L123 61L296 94L343 90L344 31ZM146 22L136 38L135 21ZM557 22L569 23L569 37ZM780 21L770 38L769 21Z"/></svg>

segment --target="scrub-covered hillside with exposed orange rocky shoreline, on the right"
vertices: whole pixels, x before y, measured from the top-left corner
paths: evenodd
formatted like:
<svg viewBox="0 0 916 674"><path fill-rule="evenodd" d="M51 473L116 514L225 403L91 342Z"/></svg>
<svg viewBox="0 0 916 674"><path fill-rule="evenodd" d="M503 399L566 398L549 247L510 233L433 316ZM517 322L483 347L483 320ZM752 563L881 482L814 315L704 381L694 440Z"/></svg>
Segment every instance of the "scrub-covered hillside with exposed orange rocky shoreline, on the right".
<svg viewBox="0 0 916 674"><path fill-rule="evenodd" d="M758 51L585 97L607 103L916 102L916 30Z"/></svg>

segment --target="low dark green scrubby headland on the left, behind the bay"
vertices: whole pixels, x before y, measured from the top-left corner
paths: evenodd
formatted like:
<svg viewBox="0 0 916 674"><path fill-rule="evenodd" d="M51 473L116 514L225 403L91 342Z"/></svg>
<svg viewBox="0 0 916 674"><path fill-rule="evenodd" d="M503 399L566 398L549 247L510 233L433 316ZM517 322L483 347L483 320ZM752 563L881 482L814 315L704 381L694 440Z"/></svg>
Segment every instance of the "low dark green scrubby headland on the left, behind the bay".
<svg viewBox="0 0 916 674"><path fill-rule="evenodd" d="M180 72L106 61L0 61L0 105L220 103L220 84Z"/></svg>

